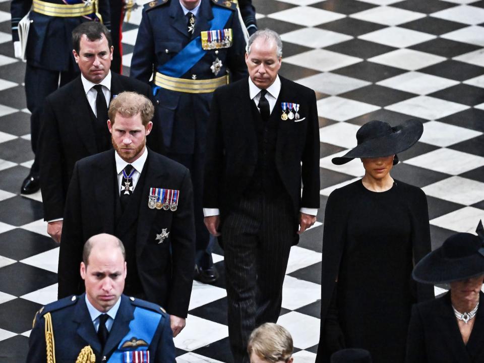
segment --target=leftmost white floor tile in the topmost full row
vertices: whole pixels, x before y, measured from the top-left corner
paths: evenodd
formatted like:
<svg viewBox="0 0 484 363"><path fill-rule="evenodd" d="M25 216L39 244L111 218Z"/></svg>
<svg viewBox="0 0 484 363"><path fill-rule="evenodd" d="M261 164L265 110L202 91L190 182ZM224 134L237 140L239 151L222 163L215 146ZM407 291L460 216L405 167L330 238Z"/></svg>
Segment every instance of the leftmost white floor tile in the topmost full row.
<svg viewBox="0 0 484 363"><path fill-rule="evenodd" d="M304 24L305 26L311 27L342 19L346 16L327 10L300 6L297 8L291 8L277 13L272 13L267 17L289 23Z"/></svg>

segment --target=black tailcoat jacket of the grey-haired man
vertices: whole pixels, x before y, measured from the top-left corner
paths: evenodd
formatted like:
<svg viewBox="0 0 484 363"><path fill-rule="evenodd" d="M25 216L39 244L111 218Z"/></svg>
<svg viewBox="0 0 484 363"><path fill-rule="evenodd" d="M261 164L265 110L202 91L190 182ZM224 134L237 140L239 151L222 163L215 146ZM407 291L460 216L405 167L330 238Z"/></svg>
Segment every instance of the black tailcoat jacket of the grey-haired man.
<svg viewBox="0 0 484 363"><path fill-rule="evenodd" d="M277 171L297 217L300 207L319 208L316 95L307 87L279 78L281 91L272 112L282 114L281 102L300 104L299 120L279 122L275 156ZM207 131L203 205L220 209L222 218L251 183L257 164L257 120L252 117L251 102L247 78L214 93Z"/></svg>

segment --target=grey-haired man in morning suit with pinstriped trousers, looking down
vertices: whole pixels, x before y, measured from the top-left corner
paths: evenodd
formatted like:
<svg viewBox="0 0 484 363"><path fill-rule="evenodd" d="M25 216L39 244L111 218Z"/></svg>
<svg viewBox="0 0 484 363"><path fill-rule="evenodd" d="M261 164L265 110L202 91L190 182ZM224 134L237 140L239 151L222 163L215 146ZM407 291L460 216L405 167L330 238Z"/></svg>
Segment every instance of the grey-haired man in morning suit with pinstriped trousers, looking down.
<svg viewBox="0 0 484 363"><path fill-rule="evenodd" d="M250 77L215 91L207 131L205 224L223 241L236 363L251 331L277 321L290 248L319 208L316 95L277 75L281 58L277 33L254 33Z"/></svg>

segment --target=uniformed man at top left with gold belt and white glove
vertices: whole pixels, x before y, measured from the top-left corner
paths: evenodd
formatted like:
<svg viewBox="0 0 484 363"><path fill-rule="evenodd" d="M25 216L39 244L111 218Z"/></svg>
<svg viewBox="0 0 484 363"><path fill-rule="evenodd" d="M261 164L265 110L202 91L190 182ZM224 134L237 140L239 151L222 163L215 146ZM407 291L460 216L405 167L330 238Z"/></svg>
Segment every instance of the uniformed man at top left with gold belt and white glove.
<svg viewBox="0 0 484 363"><path fill-rule="evenodd" d="M31 9L32 8L32 9ZM15 56L22 57L18 34L19 22L30 11L30 30L25 57L25 95L31 112L30 131L35 156L21 193L32 194L39 190L39 160L37 144L40 130L40 113L47 95L72 81L79 68L72 55L71 34L85 21L104 21L109 28L108 0L12 0L12 39Z"/></svg>

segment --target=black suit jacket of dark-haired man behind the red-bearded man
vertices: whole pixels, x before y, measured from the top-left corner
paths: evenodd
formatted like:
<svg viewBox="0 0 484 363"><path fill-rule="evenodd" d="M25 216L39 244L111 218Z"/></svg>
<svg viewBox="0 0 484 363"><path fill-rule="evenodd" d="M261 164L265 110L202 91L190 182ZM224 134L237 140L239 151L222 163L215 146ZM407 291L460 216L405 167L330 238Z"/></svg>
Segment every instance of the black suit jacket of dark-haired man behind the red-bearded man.
<svg viewBox="0 0 484 363"><path fill-rule="evenodd" d="M150 97L150 87L133 78L111 72L111 99L123 91ZM163 151L157 118L148 135L148 145ZM81 76L50 94L44 103L40 130L40 180L44 219L63 217L69 181L76 161L105 150L98 150L92 127L94 112L89 105ZM107 126L106 126L107 130Z"/></svg>

